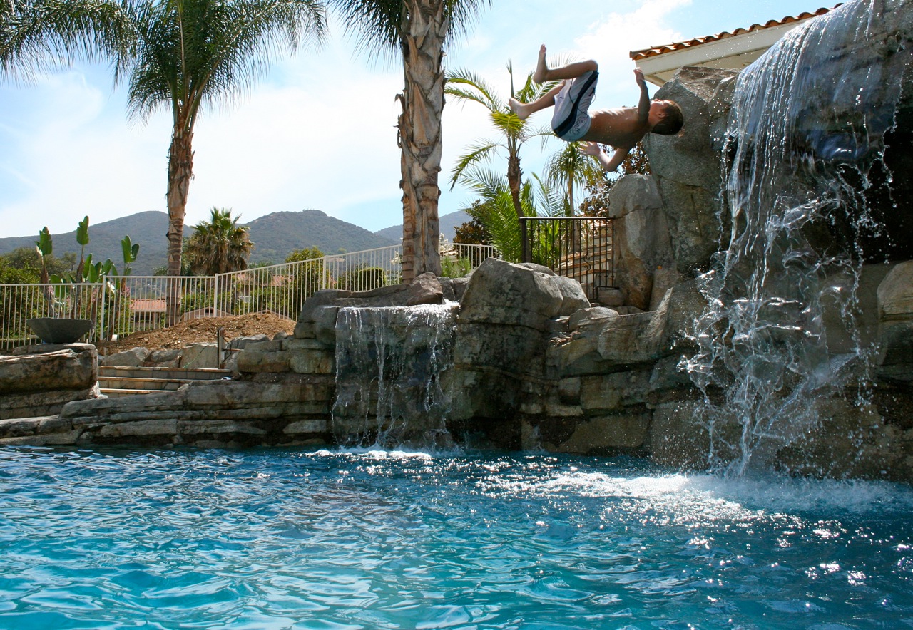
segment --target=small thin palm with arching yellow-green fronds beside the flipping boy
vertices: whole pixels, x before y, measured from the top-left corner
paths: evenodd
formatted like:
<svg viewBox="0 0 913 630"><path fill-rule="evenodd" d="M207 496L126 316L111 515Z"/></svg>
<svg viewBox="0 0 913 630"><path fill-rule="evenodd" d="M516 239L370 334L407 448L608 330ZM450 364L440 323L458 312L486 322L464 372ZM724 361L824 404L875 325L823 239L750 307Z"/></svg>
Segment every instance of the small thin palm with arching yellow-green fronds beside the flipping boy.
<svg viewBox="0 0 913 630"><path fill-rule="evenodd" d="M555 83L534 83L532 73L527 75L523 87L514 90L513 67L508 64L510 76L510 96L521 103L529 103L540 98L554 87ZM493 153L504 150L508 155L508 186L510 199L517 216L523 216L523 207L520 199L523 171L520 169L519 149L527 140L551 135L549 129L532 129L529 119L521 120L514 114L508 101L501 98L483 78L468 70L454 70L447 73L445 94L455 97L459 101L478 103L488 109L491 123L498 131L498 139L482 140L469 147L469 152L456 160L456 167L450 177L450 188L461 181L464 172L471 167L476 167L480 162L489 160Z"/></svg>

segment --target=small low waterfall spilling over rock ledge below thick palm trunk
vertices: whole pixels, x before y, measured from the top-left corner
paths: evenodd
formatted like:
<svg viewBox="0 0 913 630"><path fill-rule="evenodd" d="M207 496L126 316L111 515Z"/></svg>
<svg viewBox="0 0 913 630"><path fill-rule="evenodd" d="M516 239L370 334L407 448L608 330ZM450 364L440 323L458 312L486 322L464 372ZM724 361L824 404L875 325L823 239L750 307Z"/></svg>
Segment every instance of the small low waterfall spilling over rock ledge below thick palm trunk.
<svg viewBox="0 0 913 630"><path fill-rule="evenodd" d="M449 448L455 305L344 307L336 320L336 402L341 444Z"/></svg>

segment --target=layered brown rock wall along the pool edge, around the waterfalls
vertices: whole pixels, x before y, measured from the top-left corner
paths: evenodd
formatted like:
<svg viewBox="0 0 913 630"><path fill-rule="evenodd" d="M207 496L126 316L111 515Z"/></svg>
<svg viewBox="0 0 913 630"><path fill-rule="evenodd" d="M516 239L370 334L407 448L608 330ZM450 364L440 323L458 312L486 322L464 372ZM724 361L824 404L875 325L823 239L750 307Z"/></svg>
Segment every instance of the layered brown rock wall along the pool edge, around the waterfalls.
<svg viewBox="0 0 913 630"><path fill-rule="evenodd" d="M441 284L424 282L422 299L440 301ZM417 290L401 295L413 299ZM860 334L876 349L870 393L861 402L856 391L811 401L817 426L775 445L771 460L793 473L909 479L913 263L866 267L859 294L868 314ZM2 419L0 444L363 443L364 423L350 421L358 418L343 413L341 422L333 422L338 402L336 318L339 308L352 300L360 305L370 305L372 299L387 303L390 295L383 292L367 300L364 294L320 295L302 311L305 325L299 326L299 336L280 334L247 343L237 354L234 380L199 382L146 396L77 400L58 415ZM695 352L689 335L705 307L690 280L667 289L654 311L619 315L591 306L579 284L544 267L489 260L469 280L456 318L453 365L440 375L450 398L446 429L469 447L631 454L703 470L710 450L707 400L684 369L684 360ZM451 305L449 310L456 308ZM331 343L318 338L326 338L323 327L334 330ZM404 322L399 332L412 335L409 327ZM839 351L845 340L834 335L833 343ZM418 337L415 344L428 346ZM28 374L64 357L76 361L76 349L32 356L35 366L27 368ZM82 346L82 352L92 356L91 346ZM25 368L20 364L17 369ZM355 365L348 369L353 375L359 372ZM364 374L369 372L365 367ZM13 385L18 378L4 382L4 396L21 394L15 389L22 386ZM367 396L373 402L374 395ZM412 407L391 409L390 418L406 415ZM740 423L738 418L716 422L719 453L725 442L738 440ZM437 438L432 442L444 443Z"/></svg>

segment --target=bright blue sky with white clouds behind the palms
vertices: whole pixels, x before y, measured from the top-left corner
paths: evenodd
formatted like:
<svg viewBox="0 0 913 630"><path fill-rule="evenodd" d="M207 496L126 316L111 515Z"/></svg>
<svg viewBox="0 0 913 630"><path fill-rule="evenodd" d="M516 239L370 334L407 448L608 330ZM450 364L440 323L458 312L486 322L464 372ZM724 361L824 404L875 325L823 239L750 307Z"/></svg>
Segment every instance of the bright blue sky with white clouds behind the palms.
<svg viewBox="0 0 913 630"><path fill-rule="evenodd" d="M549 54L600 64L594 108L635 105L628 53L832 6L820 0L493 0L447 50L445 67L472 70L507 98L511 62L518 81ZM316 209L372 232L403 222L394 100L398 59L356 51L330 15L320 49L275 63L249 93L205 110L194 131L194 180L185 222L230 208L249 222L271 212ZM656 88L651 86L651 93ZM542 112L533 120L548 124ZM449 187L456 157L495 138L485 110L452 99L444 109L441 215L472 195ZM79 63L27 85L0 77L0 237L70 232L135 212L167 212L170 114L128 119L125 90L110 70ZM524 170L540 170L560 147L528 143ZM495 162L498 166L500 162ZM134 235L135 237L136 235Z"/></svg>

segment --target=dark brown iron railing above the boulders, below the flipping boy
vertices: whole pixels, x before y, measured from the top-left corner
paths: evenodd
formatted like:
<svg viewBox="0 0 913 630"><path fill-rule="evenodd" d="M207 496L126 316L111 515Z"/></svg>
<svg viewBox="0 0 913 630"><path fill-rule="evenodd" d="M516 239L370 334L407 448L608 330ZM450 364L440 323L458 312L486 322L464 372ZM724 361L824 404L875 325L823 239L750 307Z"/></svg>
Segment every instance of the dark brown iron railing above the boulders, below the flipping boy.
<svg viewBox="0 0 913 630"><path fill-rule="evenodd" d="M523 262L578 281L590 300L614 286L614 223L598 217L523 217Z"/></svg>

